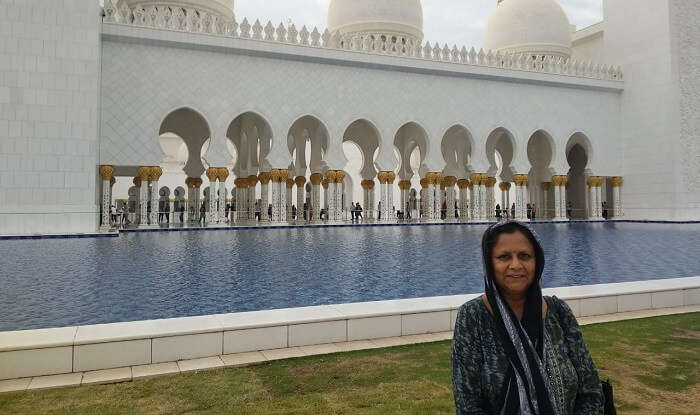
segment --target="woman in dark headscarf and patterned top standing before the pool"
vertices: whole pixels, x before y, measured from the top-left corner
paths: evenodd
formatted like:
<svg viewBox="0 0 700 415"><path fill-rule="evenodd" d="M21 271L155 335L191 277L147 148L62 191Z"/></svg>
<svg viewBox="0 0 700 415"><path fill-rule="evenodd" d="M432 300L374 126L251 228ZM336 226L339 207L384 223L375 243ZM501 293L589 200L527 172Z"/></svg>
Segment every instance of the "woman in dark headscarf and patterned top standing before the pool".
<svg viewBox="0 0 700 415"><path fill-rule="evenodd" d="M569 307L542 297L544 250L515 221L483 236L486 293L459 309L452 342L458 414L602 414L598 373Z"/></svg>

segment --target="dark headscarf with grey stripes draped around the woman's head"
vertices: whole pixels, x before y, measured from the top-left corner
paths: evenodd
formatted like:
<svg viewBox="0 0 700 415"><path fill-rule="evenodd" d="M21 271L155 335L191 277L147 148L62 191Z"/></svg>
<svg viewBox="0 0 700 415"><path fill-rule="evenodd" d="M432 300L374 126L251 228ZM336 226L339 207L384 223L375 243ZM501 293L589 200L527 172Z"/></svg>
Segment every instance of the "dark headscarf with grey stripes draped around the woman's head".
<svg viewBox="0 0 700 415"><path fill-rule="evenodd" d="M528 288L522 320L518 320L503 300L496 284L493 248L500 235L521 232L535 250L535 278ZM500 408L503 415L555 415L554 399L547 381L544 353L544 324L542 321L542 289L540 279L544 270L544 250L535 233L526 225L506 220L490 226L481 242L484 260L486 297L491 304L496 331L510 361Z"/></svg>

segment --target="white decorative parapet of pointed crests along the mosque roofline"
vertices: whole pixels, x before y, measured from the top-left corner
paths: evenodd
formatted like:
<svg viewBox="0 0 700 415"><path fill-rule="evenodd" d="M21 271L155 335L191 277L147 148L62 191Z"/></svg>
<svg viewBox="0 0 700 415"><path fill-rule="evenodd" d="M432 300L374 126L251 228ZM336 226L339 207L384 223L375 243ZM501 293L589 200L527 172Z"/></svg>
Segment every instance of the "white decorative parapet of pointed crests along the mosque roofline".
<svg viewBox="0 0 700 415"><path fill-rule="evenodd" d="M239 24L235 18L226 20L194 9L169 6L129 8L125 3L115 7L116 0L105 0L104 22L131 26L149 27L186 33L199 33L231 38L252 39L262 42L301 45L312 48L347 50L359 53L399 56L405 58L448 62L453 64L502 68L527 72L567 75L609 81L622 81L623 73L619 66L577 61L555 56L532 56L523 53L501 53L498 51L478 51L473 47L440 46L425 42L413 47L396 47L389 36L363 34L342 35L328 29L320 32L306 26L298 30L294 24L272 22L263 26L259 20L253 25L248 19Z"/></svg>

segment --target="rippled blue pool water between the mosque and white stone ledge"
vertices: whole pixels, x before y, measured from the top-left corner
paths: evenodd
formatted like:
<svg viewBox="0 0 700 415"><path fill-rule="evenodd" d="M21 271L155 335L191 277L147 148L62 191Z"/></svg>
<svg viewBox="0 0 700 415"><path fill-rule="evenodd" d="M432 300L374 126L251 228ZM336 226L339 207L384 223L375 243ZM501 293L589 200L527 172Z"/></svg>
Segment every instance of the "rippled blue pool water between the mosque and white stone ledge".
<svg viewBox="0 0 700 415"><path fill-rule="evenodd" d="M700 275L700 225L541 224L545 287ZM485 226L0 241L0 331L476 293Z"/></svg>

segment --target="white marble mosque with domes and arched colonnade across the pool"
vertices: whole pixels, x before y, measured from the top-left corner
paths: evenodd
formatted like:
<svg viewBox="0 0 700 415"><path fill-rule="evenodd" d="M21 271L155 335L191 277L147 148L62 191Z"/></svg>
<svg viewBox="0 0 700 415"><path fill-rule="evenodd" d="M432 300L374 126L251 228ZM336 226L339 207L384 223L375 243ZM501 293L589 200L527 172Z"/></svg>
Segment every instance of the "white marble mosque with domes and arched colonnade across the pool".
<svg viewBox="0 0 700 415"><path fill-rule="evenodd" d="M700 2L604 0L580 30L556 0L494 3L462 46L424 39L420 0L332 0L323 28L232 0L3 1L0 234L109 230L114 209L334 222L353 203L700 220Z"/></svg>

